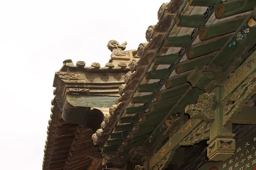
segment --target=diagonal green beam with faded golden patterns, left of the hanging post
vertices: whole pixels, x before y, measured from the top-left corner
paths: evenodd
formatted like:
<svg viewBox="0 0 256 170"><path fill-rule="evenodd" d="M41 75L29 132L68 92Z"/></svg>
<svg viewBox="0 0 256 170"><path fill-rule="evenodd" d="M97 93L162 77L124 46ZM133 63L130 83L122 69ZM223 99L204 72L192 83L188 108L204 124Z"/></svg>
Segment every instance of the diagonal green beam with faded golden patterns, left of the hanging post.
<svg viewBox="0 0 256 170"><path fill-rule="evenodd" d="M149 169L152 169L158 162L165 158L171 151L176 151L180 147L180 142L202 121L200 119L189 119L183 127L175 133L172 138L151 157L149 160Z"/></svg>

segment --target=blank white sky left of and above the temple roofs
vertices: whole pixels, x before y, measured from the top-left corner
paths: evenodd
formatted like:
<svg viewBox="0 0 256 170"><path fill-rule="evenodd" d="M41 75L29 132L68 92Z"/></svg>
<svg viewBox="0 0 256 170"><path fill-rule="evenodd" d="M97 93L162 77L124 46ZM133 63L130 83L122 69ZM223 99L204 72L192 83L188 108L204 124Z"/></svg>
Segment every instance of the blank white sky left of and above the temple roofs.
<svg viewBox="0 0 256 170"><path fill-rule="evenodd" d="M168 2L169 0L166 0ZM0 0L0 169L40 170L62 61L102 67L109 40L146 42L162 0Z"/></svg>

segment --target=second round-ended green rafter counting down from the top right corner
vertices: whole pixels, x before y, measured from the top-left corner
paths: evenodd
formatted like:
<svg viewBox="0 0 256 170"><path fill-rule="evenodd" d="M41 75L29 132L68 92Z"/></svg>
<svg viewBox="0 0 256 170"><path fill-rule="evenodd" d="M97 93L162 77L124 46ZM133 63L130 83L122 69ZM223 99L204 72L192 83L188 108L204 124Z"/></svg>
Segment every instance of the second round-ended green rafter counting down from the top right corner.
<svg viewBox="0 0 256 170"><path fill-rule="evenodd" d="M219 37L221 35L234 32L241 26L246 17L234 18L228 21L222 21L210 26L205 26L199 30L199 39L209 40L211 38Z"/></svg>

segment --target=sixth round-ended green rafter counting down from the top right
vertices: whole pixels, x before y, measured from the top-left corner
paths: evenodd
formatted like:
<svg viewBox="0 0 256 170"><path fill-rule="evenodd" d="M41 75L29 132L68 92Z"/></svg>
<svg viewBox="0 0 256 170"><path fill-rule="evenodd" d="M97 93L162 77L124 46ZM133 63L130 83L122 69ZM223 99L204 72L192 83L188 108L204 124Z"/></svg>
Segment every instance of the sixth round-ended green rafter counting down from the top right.
<svg viewBox="0 0 256 170"><path fill-rule="evenodd" d="M169 99L171 97L183 94L187 91L187 89L190 87L189 83L184 83L182 85L177 85L173 88L166 89L164 91L160 91L157 93L156 99L157 101L162 101L165 99Z"/></svg>

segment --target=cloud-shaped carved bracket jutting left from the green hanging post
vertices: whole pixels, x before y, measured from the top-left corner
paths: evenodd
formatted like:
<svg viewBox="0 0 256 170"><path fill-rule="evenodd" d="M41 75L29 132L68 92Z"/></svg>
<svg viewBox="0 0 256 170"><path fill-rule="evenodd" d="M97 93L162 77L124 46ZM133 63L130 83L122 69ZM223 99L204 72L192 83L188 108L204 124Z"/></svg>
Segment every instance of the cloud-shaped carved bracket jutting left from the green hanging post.
<svg viewBox="0 0 256 170"><path fill-rule="evenodd" d="M215 112L215 94L205 93L198 98L198 103L195 105L187 105L185 113L189 113L191 118L202 119L206 122L214 120Z"/></svg>

